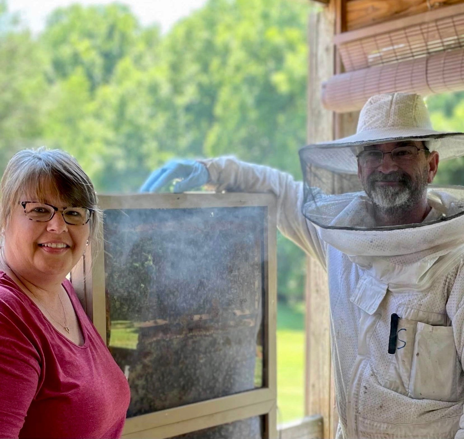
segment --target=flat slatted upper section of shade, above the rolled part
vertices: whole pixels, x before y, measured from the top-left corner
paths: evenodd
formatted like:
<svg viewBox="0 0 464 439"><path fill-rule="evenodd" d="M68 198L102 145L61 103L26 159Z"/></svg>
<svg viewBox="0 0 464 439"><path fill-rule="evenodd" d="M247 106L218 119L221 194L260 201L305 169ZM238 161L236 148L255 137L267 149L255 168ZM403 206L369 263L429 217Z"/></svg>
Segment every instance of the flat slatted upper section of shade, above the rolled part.
<svg viewBox="0 0 464 439"><path fill-rule="evenodd" d="M421 14L424 21L393 28L337 43L346 71L424 58L437 52L464 47L463 5L448 7L451 16L430 20L431 13ZM454 14L455 11L462 11ZM401 20L401 23L405 23ZM356 35L356 34L355 34ZM359 33L362 35L362 33ZM337 40L335 39L337 42Z"/></svg>

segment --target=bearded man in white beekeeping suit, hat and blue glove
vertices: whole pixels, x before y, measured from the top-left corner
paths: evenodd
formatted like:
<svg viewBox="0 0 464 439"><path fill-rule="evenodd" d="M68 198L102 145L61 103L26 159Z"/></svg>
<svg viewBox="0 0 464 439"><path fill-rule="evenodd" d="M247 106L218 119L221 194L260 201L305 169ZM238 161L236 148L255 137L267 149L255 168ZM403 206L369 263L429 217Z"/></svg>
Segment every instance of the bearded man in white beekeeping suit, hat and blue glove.
<svg viewBox="0 0 464 439"><path fill-rule="evenodd" d="M357 133L300 150L304 182L233 158L171 162L143 191L272 192L280 231L329 275L337 438L464 439L464 188L429 188L462 133L412 94L372 97ZM363 191L324 194L319 169Z"/></svg>

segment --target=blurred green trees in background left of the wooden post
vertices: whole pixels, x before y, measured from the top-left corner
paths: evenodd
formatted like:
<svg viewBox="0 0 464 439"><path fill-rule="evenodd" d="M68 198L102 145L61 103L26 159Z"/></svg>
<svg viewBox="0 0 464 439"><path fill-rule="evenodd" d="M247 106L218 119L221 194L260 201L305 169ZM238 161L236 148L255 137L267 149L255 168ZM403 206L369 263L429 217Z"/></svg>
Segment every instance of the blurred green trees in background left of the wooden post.
<svg viewBox="0 0 464 439"><path fill-rule="evenodd" d="M235 155L299 178L305 0L210 0L165 35L128 6L55 10L38 36L0 0L0 173L45 144L99 193L135 192L173 157ZM303 299L304 257L278 239L279 299Z"/></svg>

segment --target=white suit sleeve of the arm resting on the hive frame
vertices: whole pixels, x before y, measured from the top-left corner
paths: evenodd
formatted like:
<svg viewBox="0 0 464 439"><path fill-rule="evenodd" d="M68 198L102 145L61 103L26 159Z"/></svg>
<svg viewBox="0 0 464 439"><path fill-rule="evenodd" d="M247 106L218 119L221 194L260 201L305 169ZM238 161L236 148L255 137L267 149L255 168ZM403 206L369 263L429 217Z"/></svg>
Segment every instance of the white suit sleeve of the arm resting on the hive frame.
<svg viewBox="0 0 464 439"><path fill-rule="evenodd" d="M309 256L316 258L324 267L325 244L313 226L301 212L303 183L290 174L268 166L238 161L234 157L201 160L208 169L210 185L216 191L261 192L277 197L277 228L301 247Z"/></svg>

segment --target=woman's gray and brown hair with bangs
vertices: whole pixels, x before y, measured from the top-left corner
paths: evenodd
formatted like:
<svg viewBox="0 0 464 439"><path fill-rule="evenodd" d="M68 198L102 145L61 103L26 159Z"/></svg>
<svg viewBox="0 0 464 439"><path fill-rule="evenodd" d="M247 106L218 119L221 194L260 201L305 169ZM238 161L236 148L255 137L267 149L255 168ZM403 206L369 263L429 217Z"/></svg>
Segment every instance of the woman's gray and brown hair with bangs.
<svg viewBox="0 0 464 439"><path fill-rule="evenodd" d="M90 239L98 246L103 213L97 194L77 160L60 149L22 149L8 161L0 182L0 232L5 232L12 209L20 201L44 202L47 195L67 207L93 209ZM19 200L21 196L27 200Z"/></svg>

